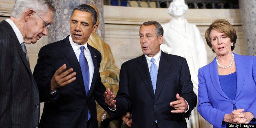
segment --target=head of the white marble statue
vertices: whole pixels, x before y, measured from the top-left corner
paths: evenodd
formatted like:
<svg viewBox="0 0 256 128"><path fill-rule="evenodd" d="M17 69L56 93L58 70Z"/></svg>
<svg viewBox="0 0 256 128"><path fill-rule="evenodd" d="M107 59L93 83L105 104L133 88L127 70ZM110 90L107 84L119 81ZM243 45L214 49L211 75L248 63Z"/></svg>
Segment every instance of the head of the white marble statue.
<svg viewBox="0 0 256 128"><path fill-rule="evenodd" d="M187 11L188 5L185 4L184 0L173 0L169 5L167 13L172 15L174 18L181 18Z"/></svg>

